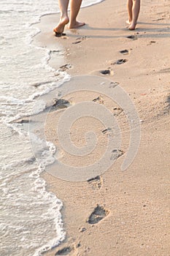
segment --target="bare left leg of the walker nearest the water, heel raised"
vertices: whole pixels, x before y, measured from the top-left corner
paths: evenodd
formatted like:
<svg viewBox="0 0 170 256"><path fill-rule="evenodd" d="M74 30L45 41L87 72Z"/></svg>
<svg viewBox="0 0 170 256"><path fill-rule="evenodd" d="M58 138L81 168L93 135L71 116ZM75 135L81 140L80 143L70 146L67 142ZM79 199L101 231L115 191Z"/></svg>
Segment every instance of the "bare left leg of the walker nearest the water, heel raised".
<svg viewBox="0 0 170 256"><path fill-rule="evenodd" d="M63 33L64 27L69 23L69 17L67 14L69 0L58 0L59 8L61 10L61 18L58 25L53 29L55 33Z"/></svg>

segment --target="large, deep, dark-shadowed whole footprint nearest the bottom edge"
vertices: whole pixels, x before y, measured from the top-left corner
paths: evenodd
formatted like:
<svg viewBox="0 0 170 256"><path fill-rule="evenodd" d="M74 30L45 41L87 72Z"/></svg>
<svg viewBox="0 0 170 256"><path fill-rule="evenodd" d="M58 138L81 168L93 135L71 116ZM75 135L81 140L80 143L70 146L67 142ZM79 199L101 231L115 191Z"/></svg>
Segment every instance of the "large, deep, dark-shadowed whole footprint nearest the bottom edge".
<svg viewBox="0 0 170 256"><path fill-rule="evenodd" d="M96 206L93 213L90 214L90 217L88 218L87 222L89 224L96 224L100 222L102 219L107 217L109 214L109 211L107 211L103 206Z"/></svg>

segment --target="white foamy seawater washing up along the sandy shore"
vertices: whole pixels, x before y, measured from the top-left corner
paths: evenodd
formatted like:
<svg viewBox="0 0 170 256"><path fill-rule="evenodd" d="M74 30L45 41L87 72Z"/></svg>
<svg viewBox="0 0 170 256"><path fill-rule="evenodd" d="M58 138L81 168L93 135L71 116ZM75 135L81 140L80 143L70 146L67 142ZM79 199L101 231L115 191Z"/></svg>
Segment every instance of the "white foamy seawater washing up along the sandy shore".
<svg viewBox="0 0 170 256"><path fill-rule="evenodd" d="M82 7L97 2L84 0ZM31 25L58 12L58 1L1 0L0 5L0 255L36 256L66 236L62 202L47 192L29 134L15 120L44 110L45 100L37 97L69 76L55 76L48 65L50 50L31 44L39 32ZM39 147L45 167L55 147L41 140Z"/></svg>

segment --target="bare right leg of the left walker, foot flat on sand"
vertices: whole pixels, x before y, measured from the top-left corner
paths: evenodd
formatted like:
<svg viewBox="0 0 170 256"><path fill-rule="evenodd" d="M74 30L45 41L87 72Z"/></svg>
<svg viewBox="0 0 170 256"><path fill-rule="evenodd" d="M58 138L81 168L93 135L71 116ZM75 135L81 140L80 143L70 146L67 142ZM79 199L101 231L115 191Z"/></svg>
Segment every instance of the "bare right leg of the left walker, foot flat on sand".
<svg viewBox="0 0 170 256"><path fill-rule="evenodd" d="M70 21L69 29L76 29L80 26L84 26L84 22L77 21L77 15L80 11L82 0L71 0L70 2Z"/></svg>

